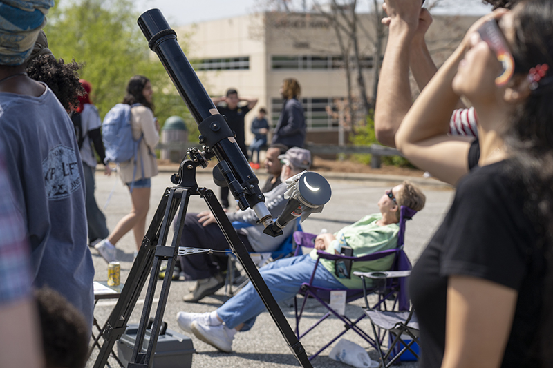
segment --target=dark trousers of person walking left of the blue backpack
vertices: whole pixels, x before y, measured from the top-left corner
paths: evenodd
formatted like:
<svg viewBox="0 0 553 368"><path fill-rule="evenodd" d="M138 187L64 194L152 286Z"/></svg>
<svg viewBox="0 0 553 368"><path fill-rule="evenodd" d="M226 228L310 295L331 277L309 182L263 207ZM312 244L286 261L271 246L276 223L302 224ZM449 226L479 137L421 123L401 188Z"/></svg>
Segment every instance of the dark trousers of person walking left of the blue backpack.
<svg viewBox="0 0 553 368"><path fill-rule="evenodd" d="M88 224L88 242L96 239L104 239L109 235L108 226L106 226L106 216L100 211L94 197L94 171L95 168L88 166L83 162L82 170L84 172L84 188L86 191L86 222Z"/></svg>

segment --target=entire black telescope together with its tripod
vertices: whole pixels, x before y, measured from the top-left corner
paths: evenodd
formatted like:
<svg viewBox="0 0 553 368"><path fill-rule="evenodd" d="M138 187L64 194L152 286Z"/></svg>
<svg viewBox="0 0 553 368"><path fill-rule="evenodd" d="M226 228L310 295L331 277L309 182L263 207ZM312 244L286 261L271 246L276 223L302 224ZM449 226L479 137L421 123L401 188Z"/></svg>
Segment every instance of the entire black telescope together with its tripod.
<svg viewBox="0 0 553 368"><path fill-rule="evenodd" d="M153 354L156 351L158 336L165 313L169 287L174 271L177 256L186 257L199 253L215 253L214 249L191 248L180 246L182 229L184 228L187 206L191 195L200 195L212 211L217 224L230 249L241 262L252 286L265 304L274 323L277 325L283 338L288 343L290 351L304 368L312 368L306 350L292 331L279 304L272 296L267 284L261 277L259 270L252 261L245 245L232 227L221 203L218 202L213 191L200 188L196 183L196 168L207 167L207 160L216 157L218 164L214 169L214 180L218 185L228 185L232 195L242 210L252 209L264 226L264 233L270 236L281 235L282 229L288 222L301 216L302 220L313 212L320 212L330 200L330 185L317 173L299 173L288 179L285 198L289 199L285 209L276 221L273 221L270 211L265 206L265 196L259 189L259 180L247 163L242 151L236 143L234 134L230 130L223 115L218 113L212 100L209 98L203 85L196 76L196 72L185 57L178 45L176 33L169 28L169 24L160 10L148 10L138 19L138 26L148 41L149 48L156 52L169 77L173 81L180 97L185 101L191 115L200 130L200 143L203 151L190 148L187 155L180 162L178 173L171 177L175 186L166 188L162 195L158 209L142 240L140 250L136 256L129 276L121 291L118 302L113 308L106 325L102 328L104 343L100 347L94 368L102 368L117 341L126 331L127 322L135 307L142 287L149 282L144 307L140 316L140 324L135 338L135 345L128 368L147 368L152 366ZM176 218L174 236L168 242L169 228ZM185 241L186 243L186 241ZM219 251L225 253L226 251ZM156 314L149 322L153 300L156 296L156 284L162 262L167 262L167 271L158 298ZM144 342L146 330L151 326L149 342ZM143 344L147 349L143 350ZM89 352L90 354L90 352Z"/></svg>

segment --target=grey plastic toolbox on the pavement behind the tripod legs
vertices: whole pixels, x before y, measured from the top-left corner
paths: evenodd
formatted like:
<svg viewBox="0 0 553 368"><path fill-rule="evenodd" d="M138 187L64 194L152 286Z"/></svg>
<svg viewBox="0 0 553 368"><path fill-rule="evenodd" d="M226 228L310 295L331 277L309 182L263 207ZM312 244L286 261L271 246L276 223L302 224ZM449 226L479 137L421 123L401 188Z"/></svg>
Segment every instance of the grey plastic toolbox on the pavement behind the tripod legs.
<svg viewBox="0 0 553 368"><path fill-rule="evenodd" d="M138 325L132 324L117 341L117 355L126 367L133 356L134 343ZM142 343L142 353L146 353L150 341L151 330L147 329ZM192 366L192 354L196 350L191 338L166 329L158 338L158 345L153 354L153 368L189 368Z"/></svg>

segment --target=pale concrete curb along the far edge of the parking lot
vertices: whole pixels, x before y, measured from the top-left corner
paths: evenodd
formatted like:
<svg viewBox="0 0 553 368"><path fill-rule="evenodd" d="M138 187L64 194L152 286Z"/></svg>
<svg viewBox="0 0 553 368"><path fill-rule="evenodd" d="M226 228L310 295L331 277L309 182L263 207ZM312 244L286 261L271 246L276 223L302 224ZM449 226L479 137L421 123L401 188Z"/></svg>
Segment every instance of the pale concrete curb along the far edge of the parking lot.
<svg viewBox="0 0 553 368"><path fill-rule="evenodd" d="M158 171L162 173L176 173L178 164L158 166ZM259 177L265 177L265 172L262 170L254 171ZM212 168L208 167L196 171L196 175L212 175ZM419 186L431 186L433 188L453 189L450 184L440 182L433 177L416 177L409 175L389 175L389 174L367 174L367 173L338 173L335 171L323 171L321 175L327 179L334 180L356 180L359 182L403 182L409 180L413 184Z"/></svg>

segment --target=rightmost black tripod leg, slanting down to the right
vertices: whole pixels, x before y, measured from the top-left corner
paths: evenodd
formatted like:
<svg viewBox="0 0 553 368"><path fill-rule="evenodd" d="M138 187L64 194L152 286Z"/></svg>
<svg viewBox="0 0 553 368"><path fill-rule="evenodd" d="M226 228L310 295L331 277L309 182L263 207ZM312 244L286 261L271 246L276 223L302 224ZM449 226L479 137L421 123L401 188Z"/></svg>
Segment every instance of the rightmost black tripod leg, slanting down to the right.
<svg viewBox="0 0 553 368"><path fill-rule="evenodd" d="M290 350L292 350L292 352L296 356L296 359L298 360L301 367L312 367L311 362L308 360L306 350L303 349L301 342L299 342L297 336L294 334L294 331L292 331L292 328L290 327L290 325L288 324L288 320L286 320L284 314L282 313L279 304L276 300L274 300L274 297L267 287L267 284L265 284L265 280L263 280L261 274L259 273L259 270L254 264L254 261L252 261L252 258L250 258L250 255L247 253L245 245L242 243L240 238L238 238L238 234L232 227L232 224L225 214L225 211L223 211L223 207L221 207L221 204L218 202L213 191L203 188L200 189L199 192L200 195L202 195L205 199L205 202L207 203L207 206L209 206L209 209L212 210L212 213L214 214L217 223L221 228L221 231L223 231L225 238L227 238L227 242L229 242L232 251L236 254L238 260L240 260L242 266L247 273L247 276L252 282L252 285L256 289L261 300L263 300L263 304L265 304L265 307L267 307L267 310L274 320L274 323L277 325L277 327L281 331L282 336L288 343L288 347L290 347Z"/></svg>

